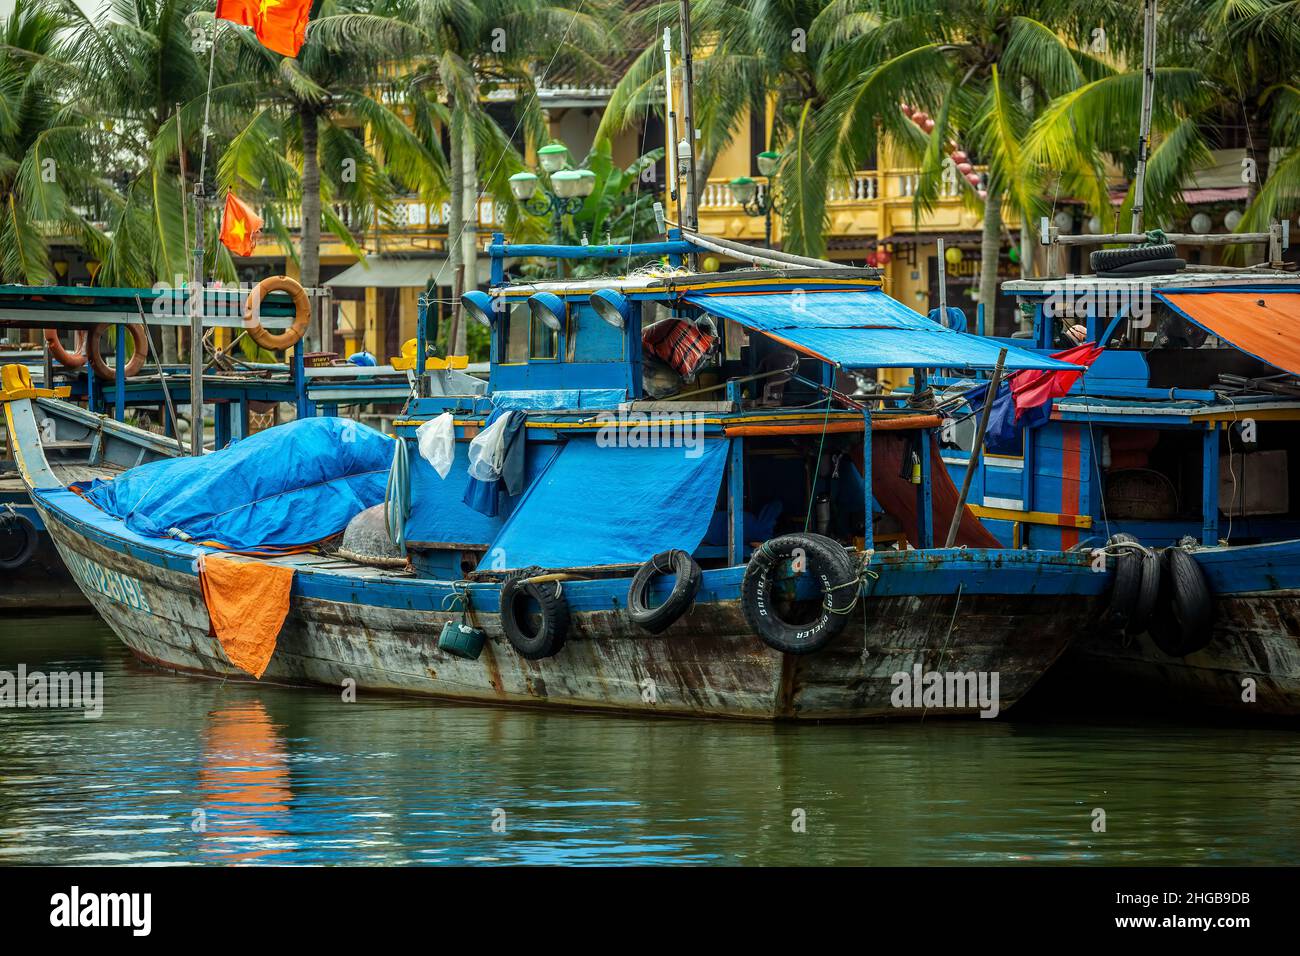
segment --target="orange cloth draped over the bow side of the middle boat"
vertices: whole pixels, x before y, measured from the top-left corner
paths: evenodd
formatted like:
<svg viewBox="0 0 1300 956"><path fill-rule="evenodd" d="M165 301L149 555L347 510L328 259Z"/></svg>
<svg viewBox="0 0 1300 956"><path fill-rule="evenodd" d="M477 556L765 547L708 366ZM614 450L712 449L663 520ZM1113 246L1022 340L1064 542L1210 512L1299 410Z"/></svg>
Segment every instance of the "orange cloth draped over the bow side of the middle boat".
<svg viewBox="0 0 1300 956"><path fill-rule="evenodd" d="M261 678L266 671L289 614L292 584L291 567L203 555L199 585L212 633L230 663L244 674Z"/></svg>

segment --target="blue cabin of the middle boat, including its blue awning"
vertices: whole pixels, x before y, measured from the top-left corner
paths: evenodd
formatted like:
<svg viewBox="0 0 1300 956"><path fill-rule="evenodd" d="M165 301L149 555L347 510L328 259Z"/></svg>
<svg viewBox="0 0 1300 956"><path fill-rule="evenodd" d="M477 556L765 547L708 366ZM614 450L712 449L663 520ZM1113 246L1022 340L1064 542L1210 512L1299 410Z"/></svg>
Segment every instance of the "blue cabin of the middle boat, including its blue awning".
<svg viewBox="0 0 1300 956"><path fill-rule="evenodd" d="M490 291L464 298L491 333L486 394L420 395L396 423L421 572L625 567L666 545L737 566L792 531L859 549L946 540L958 496L928 377L992 369L998 343L913 312L872 269L692 273L681 263L696 250L680 238L560 247L498 235L489 251ZM508 282L507 256L667 261L621 278ZM1005 349L1009 369L1072 368ZM878 368L913 369L914 388L879 390ZM514 477L467 488L474 438L512 412ZM445 414L454 442L439 477L419 436ZM997 546L972 516L958 525L958 544Z"/></svg>

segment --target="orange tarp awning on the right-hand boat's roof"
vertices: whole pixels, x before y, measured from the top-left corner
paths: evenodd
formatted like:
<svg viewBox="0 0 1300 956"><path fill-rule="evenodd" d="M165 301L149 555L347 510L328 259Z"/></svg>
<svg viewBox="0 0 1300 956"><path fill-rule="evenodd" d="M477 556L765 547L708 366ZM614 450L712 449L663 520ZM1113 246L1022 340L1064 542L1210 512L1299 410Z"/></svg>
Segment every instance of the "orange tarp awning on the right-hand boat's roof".
<svg viewBox="0 0 1300 956"><path fill-rule="evenodd" d="M1248 355L1300 375L1300 294L1160 293L1157 298Z"/></svg>

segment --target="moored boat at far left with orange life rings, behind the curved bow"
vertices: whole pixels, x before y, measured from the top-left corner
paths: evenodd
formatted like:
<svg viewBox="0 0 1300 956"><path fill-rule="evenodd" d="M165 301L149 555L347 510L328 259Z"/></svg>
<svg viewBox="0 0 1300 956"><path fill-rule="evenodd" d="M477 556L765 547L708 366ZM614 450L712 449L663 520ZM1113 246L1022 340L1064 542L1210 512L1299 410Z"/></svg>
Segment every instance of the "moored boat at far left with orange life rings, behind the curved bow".
<svg viewBox="0 0 1300 956"><path fill-rule="evenodd" d="M230 338L250 334L243 320L247 293L205 290L203 328L230 329ZM306 295L322 303L326 294L307 290ZM164 364L152 347L161 326L190 321L190 299L183 287L0 286L0 328L26 329L44 338L39 350L5 350L0 354L3 364L25 365L27 380L44 389L43 394L64 399L40 418L47 429L46 454L57 477L65 485L109 479L143 460L186 454L195 440L204 447L225 447L252 433L252 410L259 403L283 405L306 416L315 414L317 405L329 414L338 414L343 406L399 406L410 394L407 369L351 363L308 365L303 329L292 325L294 302L285 293L260 298L257 330L274 337L273 343L286 351L285 362L248 363L229 347L207 350L199 365L199 388L191 389L194 367ZM328 312L328 307L320 311ZM69 332L73 341L66 341ZM108 355L100 354L105 341L113 343L112 350L105 350ZM213 428L207 434L202 428L191 431L190 441L183 442L177 408L187 412L195 395L211 414ZM142 440L136 453L122 460L105 458L100 445L104 423L125 421L129 415L142 424L156 423L160 434ZM0 433L5 433L3 424ZM0 609L84 609L86 598L58 558L8 446L5 434L0 444Z"/></svg>

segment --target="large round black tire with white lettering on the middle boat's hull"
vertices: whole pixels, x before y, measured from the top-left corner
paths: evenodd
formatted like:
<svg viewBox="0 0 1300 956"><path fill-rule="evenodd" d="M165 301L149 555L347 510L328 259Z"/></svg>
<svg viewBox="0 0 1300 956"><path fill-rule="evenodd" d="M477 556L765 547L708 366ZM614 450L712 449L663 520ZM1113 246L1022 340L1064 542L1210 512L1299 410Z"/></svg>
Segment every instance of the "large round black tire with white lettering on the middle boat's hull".
<svg viewBox="0 0 1300 956"><path fill-rule="evenodd" d="M815 620L797 624L783 620L772 600L776 571L802 551L820 588L822 613ZM840 636L857 600L858 571L848 551L822 535L784 535L754 551L741 581L741 610L762 641L785 654L812 654Z"/></svg>

